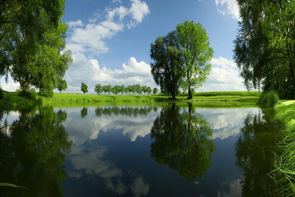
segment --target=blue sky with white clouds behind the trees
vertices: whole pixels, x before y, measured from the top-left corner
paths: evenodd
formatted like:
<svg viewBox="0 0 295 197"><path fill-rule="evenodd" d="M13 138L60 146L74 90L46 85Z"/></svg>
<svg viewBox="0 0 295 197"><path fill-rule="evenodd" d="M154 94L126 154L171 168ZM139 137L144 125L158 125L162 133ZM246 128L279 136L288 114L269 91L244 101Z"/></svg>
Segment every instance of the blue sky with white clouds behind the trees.
<svg viewBox="0 0 295 197"><path fill-rule="evenodd" d="M82 82L88 94L97 83L159 88L150 74L150 44L186 20L202 24L214 50L210 75L196 92L246 90L232 60L236 0L67 0L61 20L69 26L66 48L73 58L64 92L81 93ZM0 84L6 91L19 88L11 77Z"/></svg>

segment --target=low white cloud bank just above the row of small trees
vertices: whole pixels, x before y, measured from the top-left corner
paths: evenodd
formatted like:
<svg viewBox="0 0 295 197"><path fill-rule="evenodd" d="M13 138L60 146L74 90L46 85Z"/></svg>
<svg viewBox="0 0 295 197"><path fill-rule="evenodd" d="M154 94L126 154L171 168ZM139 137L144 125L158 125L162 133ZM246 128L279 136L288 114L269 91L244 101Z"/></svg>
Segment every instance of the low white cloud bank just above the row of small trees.
<svg viewBox="0 0 295 197"><path fill-rule="evenodd" d="M97 83L125 86L139 83L157 87L150 74L150 66L143 61L138 62L134 57L123 63L120 69L101 67L97 60L88 60L81 53L73 54L72 57L73 63L64 76L68 84L65 92L79 92L82 82L89 86L90 94L94 93L93 88Z"/></svg>

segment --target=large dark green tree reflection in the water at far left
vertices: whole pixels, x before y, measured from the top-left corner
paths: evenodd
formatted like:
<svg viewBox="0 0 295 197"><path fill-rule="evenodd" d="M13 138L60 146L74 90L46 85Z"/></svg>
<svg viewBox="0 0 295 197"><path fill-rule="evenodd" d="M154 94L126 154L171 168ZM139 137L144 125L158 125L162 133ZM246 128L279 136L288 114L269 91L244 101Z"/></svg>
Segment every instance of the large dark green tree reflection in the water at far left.
<svg viewBox="0 0 295 197"><path fill-rule="evenodd" d="M60 197L60 183L65 180L64 153L70 152L69 140L61 122L66 113L53 107L38 111L22 110L19 120L0 131L0 182L25 186L25 189L2 187L1 197Z"/></svg>

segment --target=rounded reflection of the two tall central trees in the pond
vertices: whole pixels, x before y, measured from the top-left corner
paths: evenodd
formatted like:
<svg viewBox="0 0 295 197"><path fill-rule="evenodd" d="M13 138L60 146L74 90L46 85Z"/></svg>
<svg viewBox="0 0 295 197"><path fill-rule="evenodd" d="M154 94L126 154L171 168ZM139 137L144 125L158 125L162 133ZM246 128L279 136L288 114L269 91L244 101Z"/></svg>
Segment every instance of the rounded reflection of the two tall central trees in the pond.
<svg viewBox="0 0 295 197"><path fill-rule="evenodd" d="M212 131L203 115L188 111L175 103L162 109L151 128L151 157L158 164L167 164L186 179L202 177L210 165L215 145Z"/></svg>

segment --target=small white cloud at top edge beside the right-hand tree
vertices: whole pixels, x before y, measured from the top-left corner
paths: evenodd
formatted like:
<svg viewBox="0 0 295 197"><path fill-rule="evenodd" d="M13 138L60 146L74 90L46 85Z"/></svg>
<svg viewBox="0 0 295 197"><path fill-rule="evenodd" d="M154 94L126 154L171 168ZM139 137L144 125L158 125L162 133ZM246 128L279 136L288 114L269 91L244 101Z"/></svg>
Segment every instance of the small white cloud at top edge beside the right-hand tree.
<svg viewBox="0 0 295 197"><path fill-rule="evenodd" d="M222 15L229 15L240 20L236 0L215 0L217 11Z"/></svg>

